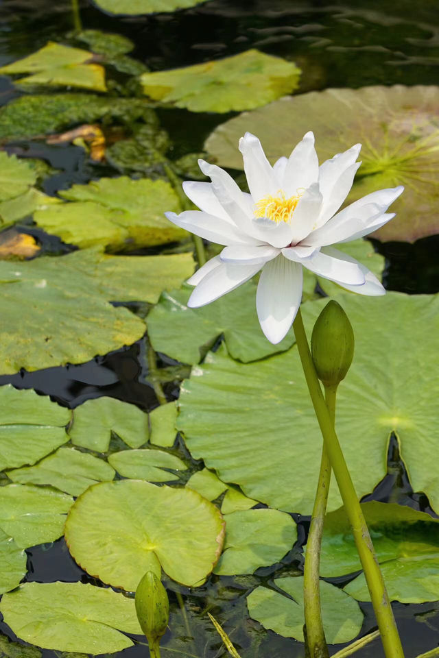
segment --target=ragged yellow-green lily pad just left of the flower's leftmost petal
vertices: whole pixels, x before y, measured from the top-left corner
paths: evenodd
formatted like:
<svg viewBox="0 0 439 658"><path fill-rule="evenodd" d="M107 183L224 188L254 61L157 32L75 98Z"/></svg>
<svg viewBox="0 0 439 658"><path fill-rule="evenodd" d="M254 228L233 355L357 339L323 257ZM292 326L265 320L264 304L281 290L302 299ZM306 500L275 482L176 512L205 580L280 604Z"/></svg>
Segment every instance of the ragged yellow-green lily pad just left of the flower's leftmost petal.
<svg viewBox="0 0 439 658"><path fill-rule="evenodd" d="M78 247L103 245L120 251L187 236L164 215L167 210L180 212L180 204L171 185L163 180L101 178L73 185L60 196L75 203L37 210L34 221L47 233Z"/></svg>

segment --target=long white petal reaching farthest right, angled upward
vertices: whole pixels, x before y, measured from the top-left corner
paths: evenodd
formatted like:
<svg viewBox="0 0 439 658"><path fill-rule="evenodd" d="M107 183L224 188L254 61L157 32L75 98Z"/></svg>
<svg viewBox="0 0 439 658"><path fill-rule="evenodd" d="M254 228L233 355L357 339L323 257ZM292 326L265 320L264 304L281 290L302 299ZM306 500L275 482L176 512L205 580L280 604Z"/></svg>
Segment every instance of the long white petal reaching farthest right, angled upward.
<svg viewBox="0 0 439 658"><path fill-rule="evenodd" d="M347 206L332 219L327 221L316 231L313 231L304 240L307 245L325 245L335 244L337 242L347 241L351 236L366 235L375 228L380 215L388 209L388 206L399 197L403 191L403 186L379 190L358 199L350 206Z"/></svg>

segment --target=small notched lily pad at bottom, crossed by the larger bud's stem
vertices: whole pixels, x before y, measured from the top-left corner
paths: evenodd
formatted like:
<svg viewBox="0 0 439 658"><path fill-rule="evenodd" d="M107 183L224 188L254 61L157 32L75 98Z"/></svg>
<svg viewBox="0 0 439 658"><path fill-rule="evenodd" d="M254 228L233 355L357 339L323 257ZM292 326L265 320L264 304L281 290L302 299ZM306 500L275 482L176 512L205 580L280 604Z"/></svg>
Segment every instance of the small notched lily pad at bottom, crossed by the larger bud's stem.
<svg viewBox="0 0 439 658"><path fill-rule="evenodd" d="M257 587L247 597L250 616L261 622L265 629L304 642L303 577L276 578L274 584L292 598L274 589ZM327 642L350 642L357 637L363 624L363 613L357 602L342 589L325 581L320 581L320 596Z"/></svg>

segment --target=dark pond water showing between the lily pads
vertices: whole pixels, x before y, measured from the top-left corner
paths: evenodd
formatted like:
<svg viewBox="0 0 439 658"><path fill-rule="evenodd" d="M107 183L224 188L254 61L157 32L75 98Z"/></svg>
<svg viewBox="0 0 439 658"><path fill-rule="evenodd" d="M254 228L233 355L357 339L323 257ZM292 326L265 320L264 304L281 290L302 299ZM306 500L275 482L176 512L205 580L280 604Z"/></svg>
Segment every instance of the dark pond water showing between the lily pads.
<svg viewBox="0 0 439 658"><path fill-rule="evenodd" d="M130 56L151 71L189 66L256 48L300 66L298 93L377 84L433 85L438 80L439 12L431 0L422 3L403 0L397 4L390 0L345 3L210 0L189 10L150 16L111 16L99 11L92 2L81 2L80 20L84 29L130 38L134 42ZM54 4L49 0L3 0L0 65L28 56L49 40L62 41L74 27L71 3L67 1ZM20 94L10 78L0 76L1 105ZM173 158L201 152L215 126L237 114L195 113L176 108L158 108L156 112L169 133ZM5 149L22 158L40 158L53 168L43 182L44 191L50 195L92 178L116 175L105 164L90 162L83 149L74 145L47 145L41 140L21 139L9 142ZM73 249L56 237L47 236L29 221L22 226L25 232L36 236L43 254L61 254ZM373 245L385 256L383 282L387 289L410 294L438 291L438 236L414 243L373 241ZM161 252L163 247L149 247L135 253ZM132 308L135 313L143 312L135 304ZM388 328L390 332L393 329ZM158 405L158 399L148 368L147 350L145 339L141 339L84 364L3 375L0 385L11 383L19 389L35 389L72 409L85 400L108 395L151 411ZM179 383L187 375L187 369L166 354L158 353L157 372L167 400L177 399ZM194 468L200 468L200 463L191 461L181 437L174 448L175 454L182 455ZM390 443L388 476L367 500L397 501L433 513L426 496L412 491L395 438ZM300 572L303 563L300 546L305 543L309 517L294 517L298 522L298 542L281 563L260 568L253 575L211 576L206 585L197 589L165 579L171 600L171 620L170 630L163 638L163 655L193 658L226 655L206 618L207 611L222 623L243 658L304 655L302 644L265 631L258 622L248 618L246 610L246 594L252 588L272 584L273 578L279 575ZM27 550L25 581L81 581L99 585L96 578L76 565L63 539ZM342 585L345 581L335 578L334 582ZM180 594L184 609L180 608ZM364 612L361 632L367 633L375 629L375 618L369 603L360 606ZM439 646L439 602L416 605L396 602L394 612L407 658ZM4 622L0 622L0 629L17 641ZM344 645L337 645L337 650L341 646ZM1 651L12 658L6 648L0 646ZM331 651L334 653L335 648ZM140 657L147 655L147 647L138 644L121 653L130 658L136 654ZM26 655L24 648L23 655ZM43 655L49 658L60 654L43 650ZM383 652L379 642L373 642L357 655L380 658Z"/></svg>

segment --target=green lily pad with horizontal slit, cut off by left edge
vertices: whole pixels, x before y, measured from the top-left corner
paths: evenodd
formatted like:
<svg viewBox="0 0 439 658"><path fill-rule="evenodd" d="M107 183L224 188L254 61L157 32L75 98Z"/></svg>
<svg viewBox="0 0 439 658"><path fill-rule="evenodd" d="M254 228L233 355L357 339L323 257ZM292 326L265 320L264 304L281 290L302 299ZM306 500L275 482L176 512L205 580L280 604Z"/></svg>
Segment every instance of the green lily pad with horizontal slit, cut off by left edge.
<svg viewBox="0 0 439 658"><path fill-rule="evenodd" d="M0 387L0 470L34 464L67 443L71 411L35 391Z"/></svg>

